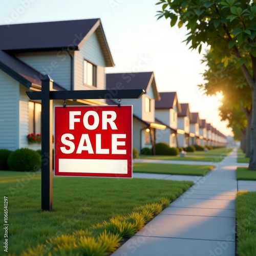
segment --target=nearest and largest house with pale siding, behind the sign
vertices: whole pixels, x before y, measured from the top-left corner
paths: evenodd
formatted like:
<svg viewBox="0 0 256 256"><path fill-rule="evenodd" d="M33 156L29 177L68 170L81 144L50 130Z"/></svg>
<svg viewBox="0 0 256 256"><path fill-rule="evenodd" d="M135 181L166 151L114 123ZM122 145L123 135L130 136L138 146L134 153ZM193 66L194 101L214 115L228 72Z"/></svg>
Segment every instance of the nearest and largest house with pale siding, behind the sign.
<svg viewBox="0 0 256 256"><path fill-rule="evenodd" d="M0 26L0 148L38 148L27 135L41 132L40 91L48 74L54 90L105 89L105 67L114 62L100 19ZM54 105L62 104L61 100ZM105 105L104 99L67 104Z"/></svg>

